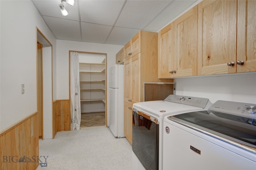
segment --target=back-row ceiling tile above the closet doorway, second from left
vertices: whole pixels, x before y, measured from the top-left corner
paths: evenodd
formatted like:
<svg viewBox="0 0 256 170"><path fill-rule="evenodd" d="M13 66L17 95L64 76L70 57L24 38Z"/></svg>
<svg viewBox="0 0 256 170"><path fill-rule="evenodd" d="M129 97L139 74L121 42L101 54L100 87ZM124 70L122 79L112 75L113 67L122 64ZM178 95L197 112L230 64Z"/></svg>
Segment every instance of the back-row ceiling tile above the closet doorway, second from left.
<svg viewBox="0 0 256 170"><path fill-rule="evenodd" d="M105 43L112 26L81 22L82 41Z"/></svg>

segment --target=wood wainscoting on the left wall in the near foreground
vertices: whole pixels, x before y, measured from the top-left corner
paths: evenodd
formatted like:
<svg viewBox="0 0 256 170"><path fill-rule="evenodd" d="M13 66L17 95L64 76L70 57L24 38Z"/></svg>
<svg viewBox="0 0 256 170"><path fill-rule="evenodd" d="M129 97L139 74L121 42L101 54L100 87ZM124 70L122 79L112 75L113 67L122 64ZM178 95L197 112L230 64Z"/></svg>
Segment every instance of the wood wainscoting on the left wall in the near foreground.
<svg viewBox="0 0 256 170"><path fill-rule="evenodd" d="M38 112L0 133L1 170L35 170L39 164Z"/></svg>

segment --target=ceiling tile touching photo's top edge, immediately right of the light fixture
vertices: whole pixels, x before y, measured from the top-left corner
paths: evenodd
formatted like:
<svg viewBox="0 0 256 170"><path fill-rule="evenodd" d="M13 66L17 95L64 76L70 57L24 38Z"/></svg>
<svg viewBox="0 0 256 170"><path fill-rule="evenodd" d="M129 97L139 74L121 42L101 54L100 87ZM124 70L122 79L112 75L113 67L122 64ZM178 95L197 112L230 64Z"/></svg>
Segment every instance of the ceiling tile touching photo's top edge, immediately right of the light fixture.
<svg viewBox="0 0 256 170"><path fill-rule="evenodd" d="M123 4L124 0L80 0L81 21L113 25Z"/></svg>

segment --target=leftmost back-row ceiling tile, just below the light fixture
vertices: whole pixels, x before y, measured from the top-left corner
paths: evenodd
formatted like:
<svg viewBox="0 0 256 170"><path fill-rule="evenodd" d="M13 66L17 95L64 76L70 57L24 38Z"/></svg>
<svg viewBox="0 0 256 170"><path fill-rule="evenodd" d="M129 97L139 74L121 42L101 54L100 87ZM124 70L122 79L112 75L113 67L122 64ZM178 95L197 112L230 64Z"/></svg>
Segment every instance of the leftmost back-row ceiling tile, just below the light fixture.
<svg viewBox="0 0 256 170"><path fill-rule="evenodd" d="M57 39L81 41L78 21L44 16L44 20Z"/></svg>

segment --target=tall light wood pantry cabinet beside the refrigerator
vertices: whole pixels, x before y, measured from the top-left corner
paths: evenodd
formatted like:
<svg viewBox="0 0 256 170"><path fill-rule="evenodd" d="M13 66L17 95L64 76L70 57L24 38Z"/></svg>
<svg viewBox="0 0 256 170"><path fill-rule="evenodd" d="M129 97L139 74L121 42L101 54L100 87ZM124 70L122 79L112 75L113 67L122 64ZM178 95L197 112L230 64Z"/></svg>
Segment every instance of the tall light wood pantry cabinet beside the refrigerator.
<svg viewBox="0 0 256 170"><path fill-rule="evenodd" d="M143 82L172 80L158 79L158 33L139 31L128 44L126 49L131 52L124 61L124 135L132 144L132 104L143 102Z"/></svg>

